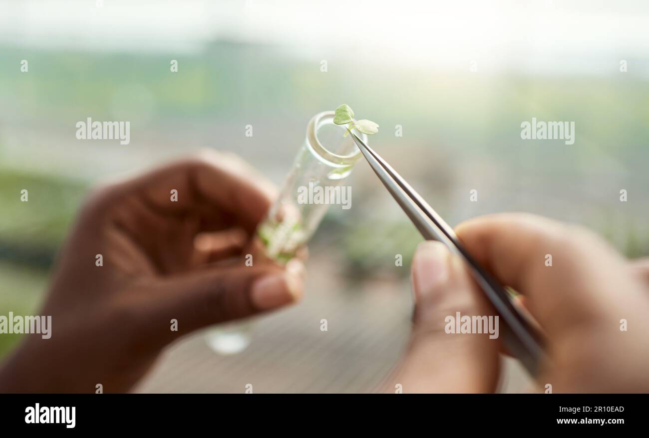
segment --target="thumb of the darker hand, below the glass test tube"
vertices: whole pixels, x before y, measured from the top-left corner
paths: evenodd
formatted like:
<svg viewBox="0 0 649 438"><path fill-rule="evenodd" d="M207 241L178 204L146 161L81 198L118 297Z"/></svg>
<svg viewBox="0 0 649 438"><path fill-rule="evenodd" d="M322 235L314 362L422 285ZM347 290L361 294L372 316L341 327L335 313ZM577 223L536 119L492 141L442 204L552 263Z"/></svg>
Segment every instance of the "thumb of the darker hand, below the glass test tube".
<svg viewBox="0 0 649 438"><path fill-rule="evenodd" d="M295 303L302 296L297 260L277 266L230 267L196 271L158 282L143 310L143 332L162 343L215 323L223 323ZM169 321L177 321L177 331Z"/></svg>

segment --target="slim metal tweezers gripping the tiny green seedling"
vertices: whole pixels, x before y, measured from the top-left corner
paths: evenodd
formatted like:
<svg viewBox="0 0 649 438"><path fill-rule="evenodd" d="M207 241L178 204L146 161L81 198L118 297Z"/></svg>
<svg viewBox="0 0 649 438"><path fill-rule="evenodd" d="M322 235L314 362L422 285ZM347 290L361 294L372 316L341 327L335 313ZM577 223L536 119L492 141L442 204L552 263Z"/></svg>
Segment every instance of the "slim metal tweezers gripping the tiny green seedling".
<svg viewBox="0 0 649 438"><path fill-rule="evenodd" d="M474 280L487 295L500 315L500 319L504 320L506 327L500 332L504 332L505 347L510 354L519 358L530 375L536 376L541 363L546 362L546 356L543 337L532 325L530 317L523 314L512 303L507 290L471 257L459 241L455 231L401 178L397 171L354 133L351 135L376 176L386 186L398 205L408 214L419 233L426 240L439 240L452 253L456 253L465 260Z"/></svg>

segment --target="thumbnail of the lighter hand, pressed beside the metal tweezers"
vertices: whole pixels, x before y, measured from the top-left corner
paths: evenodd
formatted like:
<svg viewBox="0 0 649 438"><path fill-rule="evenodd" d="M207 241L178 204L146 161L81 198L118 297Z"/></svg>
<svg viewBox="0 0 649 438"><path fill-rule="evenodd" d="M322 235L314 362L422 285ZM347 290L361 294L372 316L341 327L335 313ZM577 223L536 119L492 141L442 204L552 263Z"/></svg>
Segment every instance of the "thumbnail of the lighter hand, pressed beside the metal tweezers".
<svg viewBox="0 0 649 438"><path fill-rule="evenodd" d="M432 294L435 286L448 279L448 249L441 242L426 240L417 247L413 259L413 289L420 299Z"/></svg>

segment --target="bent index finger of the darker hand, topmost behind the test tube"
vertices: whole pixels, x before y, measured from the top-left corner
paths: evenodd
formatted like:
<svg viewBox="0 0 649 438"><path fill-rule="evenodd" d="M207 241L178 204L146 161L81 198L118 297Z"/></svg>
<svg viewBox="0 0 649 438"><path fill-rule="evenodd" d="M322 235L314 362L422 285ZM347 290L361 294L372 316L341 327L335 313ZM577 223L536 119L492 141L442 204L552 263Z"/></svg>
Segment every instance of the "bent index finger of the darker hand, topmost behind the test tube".
<svg viewBox="0 0 649 438"><path fill-rule="evenodd" d="M135 197L158 213L182 215L191 210L219 226L222 214L227 213L232 216L230 224L252 232L275 196L275 187L245 161L233 154L204 150L136 178L105 185L94 203L105 206Z"/></svg>

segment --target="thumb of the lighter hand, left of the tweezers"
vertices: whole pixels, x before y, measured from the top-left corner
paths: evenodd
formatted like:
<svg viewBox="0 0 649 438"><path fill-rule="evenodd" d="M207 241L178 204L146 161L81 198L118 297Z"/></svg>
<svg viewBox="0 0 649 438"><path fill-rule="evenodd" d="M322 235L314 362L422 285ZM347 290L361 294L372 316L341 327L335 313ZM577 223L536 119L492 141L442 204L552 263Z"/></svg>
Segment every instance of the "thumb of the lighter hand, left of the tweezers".
<svg viewBox="0 0 649 438"><path fill-rule="evenodd" d="M456 333L458 312L461 321L465 316L469 321L494 316L462 260L441 242L422 242L412 263L412 286L415 313L410 346L391 383L401 384L404 392L495 391L499 341L489 338L489 330L476 330L486 325L476 324L471 333Z"/></svg>

